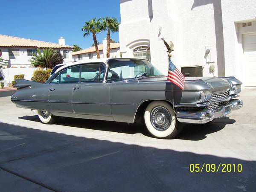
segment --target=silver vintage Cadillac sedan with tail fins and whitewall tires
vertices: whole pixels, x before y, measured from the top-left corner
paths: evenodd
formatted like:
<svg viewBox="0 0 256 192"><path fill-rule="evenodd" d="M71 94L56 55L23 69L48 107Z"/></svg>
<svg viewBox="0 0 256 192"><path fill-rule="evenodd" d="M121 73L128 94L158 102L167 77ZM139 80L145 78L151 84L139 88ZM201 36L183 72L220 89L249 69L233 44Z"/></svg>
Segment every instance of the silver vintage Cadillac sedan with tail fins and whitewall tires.
<svg viewBox="0 0 256 192"><path fill-rule="evenodd" d="M181 90L149 61L135 58L73 62L46 83L16 81L12 102L37 110L42 123L58 116L144 122L157 138L173 138L184 123L211 122L243 106L235 77L187 77Z"/></svg>

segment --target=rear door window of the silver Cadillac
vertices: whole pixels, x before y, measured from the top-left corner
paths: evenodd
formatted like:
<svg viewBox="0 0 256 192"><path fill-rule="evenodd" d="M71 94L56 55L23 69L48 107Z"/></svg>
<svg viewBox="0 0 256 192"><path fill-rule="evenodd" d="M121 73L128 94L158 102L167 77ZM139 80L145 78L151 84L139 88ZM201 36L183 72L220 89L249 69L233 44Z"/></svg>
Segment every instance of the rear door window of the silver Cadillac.
<svg viewBox="0 0 256 192"><path fill-rule="evenodd" d="M61 83L78 83L80 75L80 66L67 68L60 73Z"/></svg>

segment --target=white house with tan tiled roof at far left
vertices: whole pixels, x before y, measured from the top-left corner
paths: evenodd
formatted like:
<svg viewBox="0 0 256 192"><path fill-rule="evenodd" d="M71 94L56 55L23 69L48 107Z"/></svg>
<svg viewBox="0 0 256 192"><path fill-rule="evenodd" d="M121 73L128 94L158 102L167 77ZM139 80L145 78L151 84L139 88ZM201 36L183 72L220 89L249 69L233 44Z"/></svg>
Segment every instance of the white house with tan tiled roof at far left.
<svg viewBox="0 0 256 192"><path fill-rule="evenodd" d="M65 39L60 38L59 44L36 41L32 39L17 38L7 35L0 35L0 52L1 58L8 61L7 67L29 67L31 63L32 53L36 53L37 49L43 52L45 48L53 48L61 52L64 62L72 61L72 46L65 45Z"/></svg>

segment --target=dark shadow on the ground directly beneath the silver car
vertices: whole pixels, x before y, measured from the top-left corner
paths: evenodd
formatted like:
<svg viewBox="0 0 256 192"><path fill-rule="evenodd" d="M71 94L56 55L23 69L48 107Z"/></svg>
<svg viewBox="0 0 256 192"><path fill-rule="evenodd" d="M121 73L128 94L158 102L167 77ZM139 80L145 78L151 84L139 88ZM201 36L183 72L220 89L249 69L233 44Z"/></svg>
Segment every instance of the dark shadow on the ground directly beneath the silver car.
<svg viewBox="0 0 256 192"><path fill-rule="evenodd" d="M34 116L22 116L18 117L18 119L24 119L34 122L40 122L37 115ZM233 124L236 121L234 119L230 119L227 116L221 117L219 119L215 119L212 122L207 124L184 124L183 130L180 134L175 138L179 140L204 140L207 138L208 134L215 133L217 131L221 131L227 124ZM70 118L70 117L59 117L56 125L76 127L76 128L87 128L93 130L101 130L101 131L111 131L125 134L137 134L141 133L147 137L152 137L151 134L148 133L145 125L138 123L122 123L122 122L111 122L111 121L102 121L102 120L93 120L93 119L78 119L78 118Z"/></svg>

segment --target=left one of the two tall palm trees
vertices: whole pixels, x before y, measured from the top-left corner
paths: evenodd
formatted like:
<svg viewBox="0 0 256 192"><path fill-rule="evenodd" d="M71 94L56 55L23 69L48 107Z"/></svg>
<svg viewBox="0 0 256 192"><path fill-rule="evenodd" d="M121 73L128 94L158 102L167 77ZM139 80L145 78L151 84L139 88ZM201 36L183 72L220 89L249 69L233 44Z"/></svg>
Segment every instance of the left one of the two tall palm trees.
<svg viewBox="0 0 256 192"><path fill-rule="evenodd" d="M84 37L87 35L90 35L91 33L93 34L93 42L94 42L97 58L100 58L97 39L96 39L96 33L99 33L102 31L102 24L99 21L99 19L96 20L96 18L93 18L89 21L85 21L84 23L85 25L82 27L82 31L84 31Z"/></svg>

